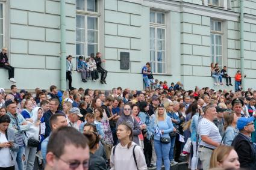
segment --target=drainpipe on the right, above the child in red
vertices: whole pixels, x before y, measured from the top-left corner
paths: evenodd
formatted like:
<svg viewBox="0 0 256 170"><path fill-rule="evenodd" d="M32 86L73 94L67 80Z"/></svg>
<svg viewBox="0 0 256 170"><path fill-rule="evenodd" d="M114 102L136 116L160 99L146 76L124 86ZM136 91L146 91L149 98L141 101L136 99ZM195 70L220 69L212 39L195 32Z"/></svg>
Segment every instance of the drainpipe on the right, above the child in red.
<svg viewBox="0 0 256 170"><path fill-rule="evenodd" d="M241 74L245 74L245 56L244 56L244 41L243 41L243 0L240 0L240 66ZM245 78L242 77L242 86L245 88Z"/></svg>

